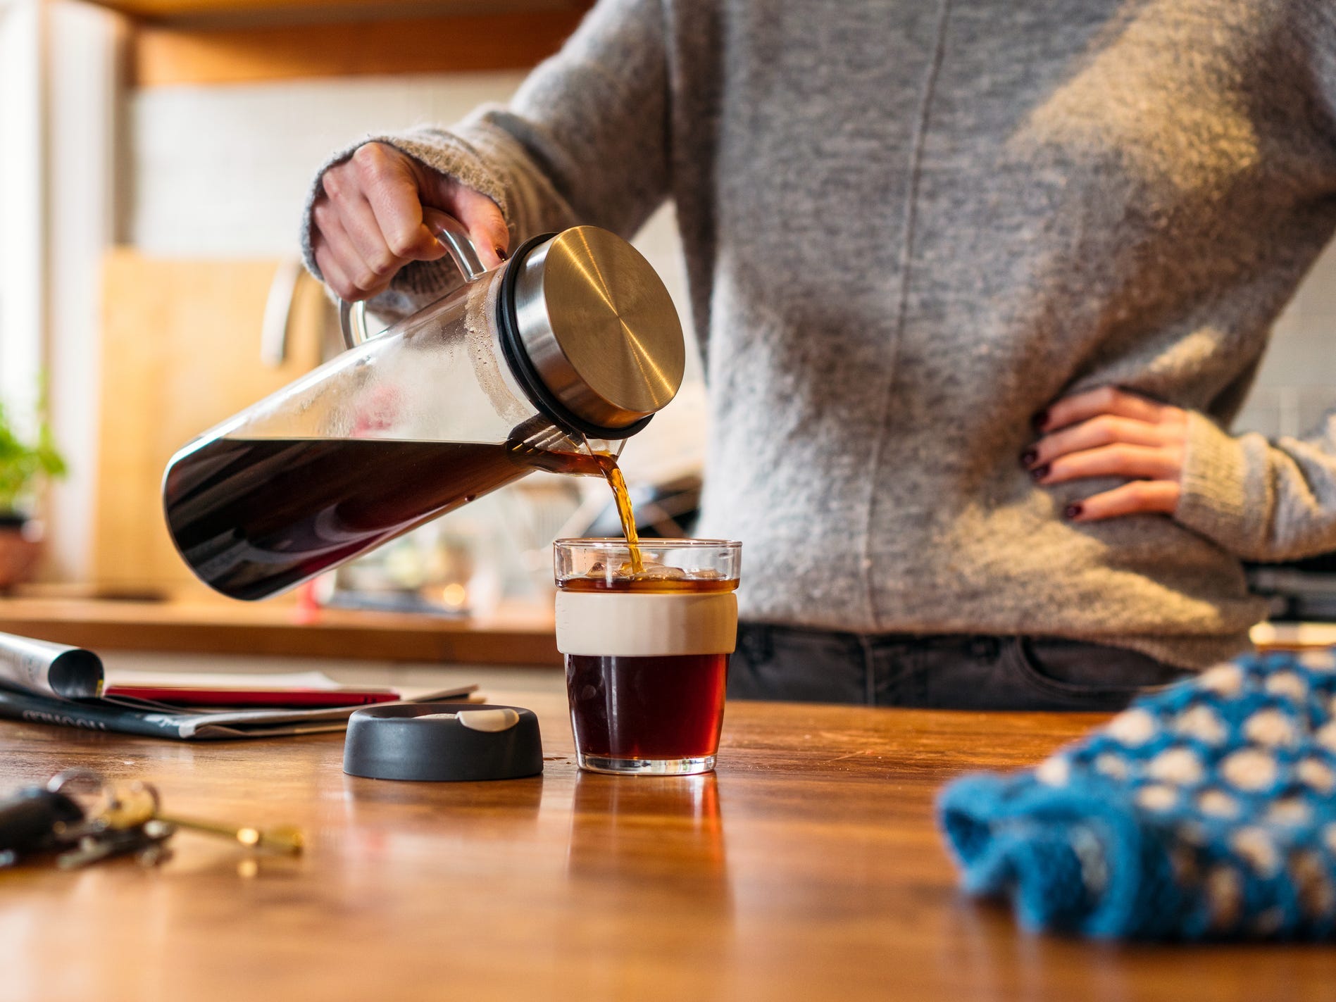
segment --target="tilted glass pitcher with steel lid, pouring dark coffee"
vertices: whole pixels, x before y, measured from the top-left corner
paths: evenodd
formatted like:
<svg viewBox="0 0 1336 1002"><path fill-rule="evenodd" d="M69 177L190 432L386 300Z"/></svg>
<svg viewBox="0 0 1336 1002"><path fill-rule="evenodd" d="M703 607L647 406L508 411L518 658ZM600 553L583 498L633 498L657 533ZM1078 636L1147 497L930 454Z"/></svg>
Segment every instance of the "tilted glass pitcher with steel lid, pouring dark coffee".
<svg viewBox="0 0 1336 1002"><path fill-rule="evenodd" d="M234 599L263 599L536 469L600 474L677 393L681 323L649 263L578 226L484 271L428 211L464 285L182 448L163 477L176 549Z"/></svg>

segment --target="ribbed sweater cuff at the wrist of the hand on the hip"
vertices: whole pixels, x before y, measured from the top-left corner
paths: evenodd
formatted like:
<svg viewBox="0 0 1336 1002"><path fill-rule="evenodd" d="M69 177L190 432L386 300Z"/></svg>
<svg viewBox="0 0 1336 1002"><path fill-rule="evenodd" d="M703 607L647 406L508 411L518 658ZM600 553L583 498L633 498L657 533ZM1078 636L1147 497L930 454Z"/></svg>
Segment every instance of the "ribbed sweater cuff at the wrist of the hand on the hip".
<svg viewBox="0 0 1336 1002"><path fill-rule="evenodd" d="M1265 449L1260 436L1236 438L1210 418L1189 411L1174 518L1230 553L1257 554L1271 513Z"/></svg>

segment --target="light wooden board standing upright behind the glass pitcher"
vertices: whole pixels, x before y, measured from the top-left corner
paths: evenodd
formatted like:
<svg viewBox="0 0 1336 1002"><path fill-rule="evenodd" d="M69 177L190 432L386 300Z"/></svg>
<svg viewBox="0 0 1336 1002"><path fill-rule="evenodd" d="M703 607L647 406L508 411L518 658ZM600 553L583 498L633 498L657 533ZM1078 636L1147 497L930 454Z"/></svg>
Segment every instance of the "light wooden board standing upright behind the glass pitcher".
<svg viewBox="0 0 1336 1002"><path fill-rule="evenodd" d="M291 266L155 259L128 248L108 254L92 560L100 592L210 595L167 534L162 474L196 434L319 363L333 309L305 273L282 361L275 345L263 345L275 275ZM281 278L281 297L283 286Z"/></svg>

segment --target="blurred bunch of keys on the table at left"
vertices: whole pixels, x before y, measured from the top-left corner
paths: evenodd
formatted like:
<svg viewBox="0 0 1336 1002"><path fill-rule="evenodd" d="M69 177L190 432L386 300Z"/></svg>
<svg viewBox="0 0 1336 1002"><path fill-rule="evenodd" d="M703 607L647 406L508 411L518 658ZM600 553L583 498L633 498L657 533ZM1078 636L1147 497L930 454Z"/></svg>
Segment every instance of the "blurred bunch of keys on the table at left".
<svg viewBox="0 0 1336 1002"><path fill-rule="evenodd" d="M90 800L88 806L81 800ZM0 868L51 854L65 870L127 855L155 866L171 856L167 842L178 828L218 835L251 850L302 851L298 828L236 827L168 815L151 783L112 782L92 770L67 770L45 786L0 800Z"/></svg>

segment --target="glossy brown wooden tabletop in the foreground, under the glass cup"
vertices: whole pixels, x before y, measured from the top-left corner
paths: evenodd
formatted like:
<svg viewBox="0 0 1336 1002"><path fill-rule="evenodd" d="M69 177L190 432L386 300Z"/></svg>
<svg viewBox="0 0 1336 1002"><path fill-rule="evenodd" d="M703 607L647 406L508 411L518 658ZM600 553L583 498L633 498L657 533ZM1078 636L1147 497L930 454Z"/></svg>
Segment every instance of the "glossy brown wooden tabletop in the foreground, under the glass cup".
<svg viewBox="0 0 1336 1002"><path fill-rule="evenodd" d="M182 812L305 826L298 859L180 834L156 870L0 872L5 999L1331 998L1325 947L1114 947L959 894L931 802L1101 720L732 703L715 776L345 776L341 737L175 744L0 721L0 790L87 766Z"/></svg>

